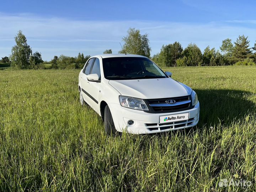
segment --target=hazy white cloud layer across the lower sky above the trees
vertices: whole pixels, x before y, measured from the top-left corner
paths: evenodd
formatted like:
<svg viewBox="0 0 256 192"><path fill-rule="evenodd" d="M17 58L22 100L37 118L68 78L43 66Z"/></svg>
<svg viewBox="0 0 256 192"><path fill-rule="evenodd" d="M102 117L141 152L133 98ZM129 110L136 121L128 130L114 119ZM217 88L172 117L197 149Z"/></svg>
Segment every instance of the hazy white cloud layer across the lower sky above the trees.
<svg viewBox="0 0 256 192"><path fill-rule="evenodd" d="M241 21L241 23L244 23ZM250 23L254 23L253 20ZM43 59L50 60L54 55L76 56L100 54L105 49L118 52L119 42L129 27L139 28L148 33L151 55L160 51L162 44L179 41L183 47L196 43L202 50L207 47L219 48L222 40L233 41L240 34L249 36L255 43L254 28L240 25L239 21L220 21L210 23L178 23L161 21L82 21L66 18L43 18L31 14L0 14L0 57L9 55L15 44L14 36L18 30L26 35L33 51L42 53Z"/></svg>

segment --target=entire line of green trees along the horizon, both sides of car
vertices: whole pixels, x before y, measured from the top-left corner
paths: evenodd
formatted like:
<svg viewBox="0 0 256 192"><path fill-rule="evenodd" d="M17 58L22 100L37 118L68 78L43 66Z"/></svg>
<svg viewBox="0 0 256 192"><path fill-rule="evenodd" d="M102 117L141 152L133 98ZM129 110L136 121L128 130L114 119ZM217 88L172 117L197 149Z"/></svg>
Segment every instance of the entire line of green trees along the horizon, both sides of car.
<svg viewBox="0 0 256 192"><path fill-rule="evenodd" d="M160 66L223 66L223 65L256 65L256 43L250 47L248 37L239 36L234 43L227 38L222 41L220 51L206 47L201 49L190 43L183 49L179 42L163 45L160 52L150 57L148 34L140 34L139 29L129 28L123 37L123 46L119 53L138 54L151 58ZM32 53L27 39L21 31L15 36L16 45L12 47L9 57L2 57L2 62L11 62L11 66L18 69L43 69L44 63L41 53ZM111 49L106 49L103 54L111 54ZM79 69L84 66L90 55L79 53L77 57L60 55L51 60L54 69ZM9 61L10 60L10 61Z"/></svg>

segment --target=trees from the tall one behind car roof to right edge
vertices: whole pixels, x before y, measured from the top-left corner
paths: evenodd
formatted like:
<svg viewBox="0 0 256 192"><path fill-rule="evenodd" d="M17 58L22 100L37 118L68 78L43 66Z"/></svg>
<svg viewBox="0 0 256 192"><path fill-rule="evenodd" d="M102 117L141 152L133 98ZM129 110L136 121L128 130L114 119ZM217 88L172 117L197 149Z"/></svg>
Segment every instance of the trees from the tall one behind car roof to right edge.
<svg viewBox="0 0 256 192"><path fill-rule="evenodd" d="M144 55L150 58L148 34L141 35L135 28L129 28L123 37L124 46L119 53ZM231 39L222 41L220 50L207 46L203 53L199 47L190 43L183 49L179 42L163 45L160 53L151 59L160 66L221 66L221 65L256 65L256 43L250 48L250 41L244 35L239 36L234 44Z"/></svg>

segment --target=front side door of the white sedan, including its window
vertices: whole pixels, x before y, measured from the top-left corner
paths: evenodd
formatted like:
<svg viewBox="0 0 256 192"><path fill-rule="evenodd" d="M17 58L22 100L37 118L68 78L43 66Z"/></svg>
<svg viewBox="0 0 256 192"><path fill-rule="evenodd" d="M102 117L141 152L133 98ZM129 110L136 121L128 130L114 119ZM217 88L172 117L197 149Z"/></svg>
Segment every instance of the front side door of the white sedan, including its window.
<svg viewBox="0 0 256 192"><path fill-rule="evenodd" d="M88 81L86 82L86 92L87 96L91 99L91 107L97 113L100 113L100 107L98 106L99 94L100 94L100 85L101 85L101 72L100 72L100 59L95 58L94 63L92 64L90 74L97 74L100 79L99 81Z"/></svg>

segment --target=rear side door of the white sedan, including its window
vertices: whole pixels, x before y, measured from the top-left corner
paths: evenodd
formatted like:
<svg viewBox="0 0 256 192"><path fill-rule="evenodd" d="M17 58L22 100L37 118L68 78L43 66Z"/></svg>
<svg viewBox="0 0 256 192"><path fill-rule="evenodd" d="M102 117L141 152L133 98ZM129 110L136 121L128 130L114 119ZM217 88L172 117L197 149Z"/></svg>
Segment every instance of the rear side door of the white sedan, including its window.
<svg viewBox="0 0 256 192"><path fill-rule="evenodd" d="M94 63L95 58L91 58L88 60L87 64L85 65L85 68L80 76L81 81L81 89L82 89L82 96L86 103L88 103L91 106L91 103L93 102L91 98L88 96L88 89L90 82L87 80L86 76L90 74L92 64Z"/></svg>

